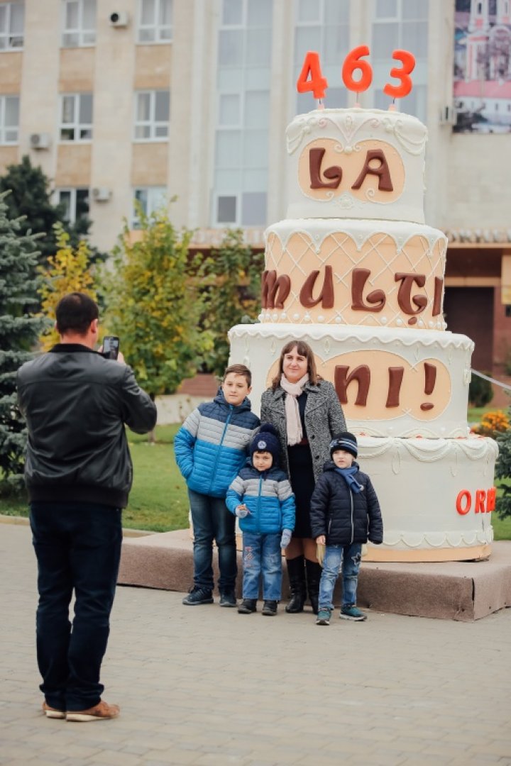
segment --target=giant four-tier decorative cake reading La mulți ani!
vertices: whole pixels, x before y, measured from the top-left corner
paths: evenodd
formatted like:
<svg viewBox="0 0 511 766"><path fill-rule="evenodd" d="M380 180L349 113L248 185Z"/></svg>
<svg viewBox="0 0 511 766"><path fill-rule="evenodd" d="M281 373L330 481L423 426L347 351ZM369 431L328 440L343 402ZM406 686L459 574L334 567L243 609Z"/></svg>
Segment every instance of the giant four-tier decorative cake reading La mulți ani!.
<svg viewBox="0 0 511 766"><path fill-rule="evenodd" d="M315 110L287 128L287 219L267 229L260 322L229 332L251 400L304 339L336 387L382 506L373 561L486 558L496 443L470 435L473 342L446 331L447 240L424 224L426 127Z"/></svg>

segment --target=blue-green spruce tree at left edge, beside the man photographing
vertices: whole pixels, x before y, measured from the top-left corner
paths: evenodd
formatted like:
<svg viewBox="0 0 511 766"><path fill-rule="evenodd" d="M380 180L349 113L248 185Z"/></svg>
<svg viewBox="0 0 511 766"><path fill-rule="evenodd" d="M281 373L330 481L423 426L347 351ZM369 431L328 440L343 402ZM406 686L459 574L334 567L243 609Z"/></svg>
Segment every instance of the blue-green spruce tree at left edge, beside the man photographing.
<svg viewBox="0 0 511 766"><path fill-rule="evenodd" d="M8 217L0 194L0 486L21 486L26 428L16 407L16 372L32 356L41 319L35 268L37 237L24 234L24 221Z"/></svg>

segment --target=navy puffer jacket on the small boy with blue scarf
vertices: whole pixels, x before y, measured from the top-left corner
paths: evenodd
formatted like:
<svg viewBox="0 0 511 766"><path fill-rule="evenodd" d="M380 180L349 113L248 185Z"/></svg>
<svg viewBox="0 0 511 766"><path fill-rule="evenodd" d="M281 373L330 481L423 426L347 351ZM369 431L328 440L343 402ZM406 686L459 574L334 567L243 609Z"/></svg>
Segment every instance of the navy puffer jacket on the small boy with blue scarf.
<svg viewBox="0 0 511 766"><path fill-rule="evenodd" d="M358 463L353 463L359 468ZM310 500L310 525L313 538L326 535L326 545L351 545L352 542L383 542L380 504L367 473L358 470L355 480L362 492L349 489L332 460L325 463Z"/></svg>

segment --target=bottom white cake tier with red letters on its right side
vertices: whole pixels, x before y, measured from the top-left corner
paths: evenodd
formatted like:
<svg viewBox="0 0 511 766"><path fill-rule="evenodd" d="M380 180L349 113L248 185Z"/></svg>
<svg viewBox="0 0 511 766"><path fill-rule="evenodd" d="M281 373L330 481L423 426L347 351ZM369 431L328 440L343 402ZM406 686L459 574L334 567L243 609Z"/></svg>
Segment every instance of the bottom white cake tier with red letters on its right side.
<svg viewBox="0 0 511 766"><path fill-rule="evenodd" d="M460 561L490 555L493 439L359 437L359 464L375 486L383 545L369 561Z"/></svg>

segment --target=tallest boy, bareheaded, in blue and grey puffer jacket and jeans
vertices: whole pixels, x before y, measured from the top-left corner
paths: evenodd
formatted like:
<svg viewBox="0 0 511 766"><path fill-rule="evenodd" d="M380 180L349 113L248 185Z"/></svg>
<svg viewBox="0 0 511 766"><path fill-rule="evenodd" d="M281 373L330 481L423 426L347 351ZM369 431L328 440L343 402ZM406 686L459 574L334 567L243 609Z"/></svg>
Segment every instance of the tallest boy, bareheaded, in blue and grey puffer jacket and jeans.
<svg viewBox="0 0 511 766"><path fill-rule="evenodd" d="M199 404L175 435L175 460L188 485L194 533L194 585L183 599L186 606L213 603L213 540L218 545L220 606L236 606L235 520L225 506L225 494L259 427L247 398L251 381L245 365L228 367L215 399Z"/></svg>

